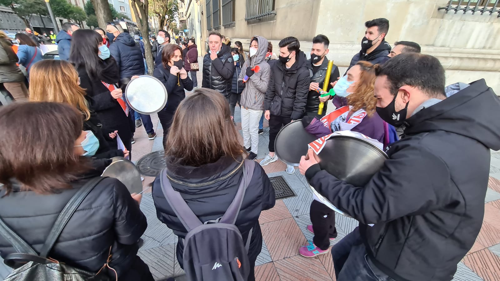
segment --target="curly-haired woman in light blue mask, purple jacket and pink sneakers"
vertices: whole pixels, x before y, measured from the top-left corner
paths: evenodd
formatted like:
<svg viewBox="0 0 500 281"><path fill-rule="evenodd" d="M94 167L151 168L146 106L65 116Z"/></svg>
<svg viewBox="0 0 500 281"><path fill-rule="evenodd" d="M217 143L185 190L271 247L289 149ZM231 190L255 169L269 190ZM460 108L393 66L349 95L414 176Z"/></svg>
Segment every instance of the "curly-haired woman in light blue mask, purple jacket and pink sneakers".
<svg viewBox="0 0 500 281"><path fill-rule="evenodd" d="M305 129L317 138L334 131L351 130L383 143L384 122L375 112L377 100L373 96L374 82L374 65L367 61L357 62L333 87L337 109L324 117L327 118L327 125L315 115L304 116L302 123ZM330 119L332 115L337 117ZM335 212L332 209L313 200L309 216L312 224L307 225L307 230L314 237L299 249L299 253L305 257L327 253L330 240L337 236Z"/></svg>

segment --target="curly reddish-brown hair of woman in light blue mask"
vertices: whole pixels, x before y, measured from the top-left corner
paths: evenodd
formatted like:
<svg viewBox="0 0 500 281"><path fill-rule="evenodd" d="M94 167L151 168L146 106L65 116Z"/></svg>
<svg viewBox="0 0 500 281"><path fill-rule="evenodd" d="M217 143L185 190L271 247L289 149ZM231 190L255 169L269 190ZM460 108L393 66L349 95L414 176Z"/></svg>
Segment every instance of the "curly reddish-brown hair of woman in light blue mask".
<svg viewBox="0 0 500 281"><path fill-rule="evenodd" d="M368 61L358 61L361 73L359 80L355 82L354 92L347 96L347 103L352 106L351 113L364 109L368 116L375 112L376 98L373 95L375 84L375 65Z"/></svg>

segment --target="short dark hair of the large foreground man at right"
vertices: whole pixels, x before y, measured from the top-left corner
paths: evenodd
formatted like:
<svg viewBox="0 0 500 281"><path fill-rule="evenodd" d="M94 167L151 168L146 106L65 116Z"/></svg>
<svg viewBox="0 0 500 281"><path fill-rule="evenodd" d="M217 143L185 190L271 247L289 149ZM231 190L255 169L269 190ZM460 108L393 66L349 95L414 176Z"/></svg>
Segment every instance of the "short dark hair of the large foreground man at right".
<svg viewBox="0 0 500 281"><path fill-rule="evenodd" d="M423 91L429 97L444 97L444 68L439 60L428 54L401 53L375 65L376 76L386 76L392 95L399 87L409 85Z"/></svg>

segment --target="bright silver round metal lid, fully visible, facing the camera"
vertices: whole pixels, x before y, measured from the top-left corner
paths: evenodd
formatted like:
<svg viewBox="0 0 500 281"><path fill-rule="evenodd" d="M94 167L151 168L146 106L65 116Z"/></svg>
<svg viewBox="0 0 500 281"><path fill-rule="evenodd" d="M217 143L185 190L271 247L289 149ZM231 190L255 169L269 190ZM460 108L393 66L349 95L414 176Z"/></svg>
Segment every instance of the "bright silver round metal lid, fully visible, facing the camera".
<svg viewBox="0 0 500 281"><path fill-rule="evenodd" d="M142 114L154 114L165 107L167 92L157 78L140 75L126 85L125 98L133 110Z"/></svg>

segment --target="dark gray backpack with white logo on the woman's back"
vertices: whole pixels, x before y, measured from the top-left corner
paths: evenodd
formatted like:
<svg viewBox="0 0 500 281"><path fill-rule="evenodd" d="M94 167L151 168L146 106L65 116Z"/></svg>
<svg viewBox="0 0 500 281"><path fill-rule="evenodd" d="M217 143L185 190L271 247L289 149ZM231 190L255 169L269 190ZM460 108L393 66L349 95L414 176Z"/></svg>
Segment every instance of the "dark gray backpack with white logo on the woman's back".
<svg viewBox="0 0 500 281"><path fill-rule="evenodd" d="M234 223L243 202L246 187L253 175L255 162L244 160L243 177L236 196L226 212L215 220L201 222L178 191L173 190L166 175L161 171L161 188L168 204L187 230L182 256L184 271L191 281L246 281L250 272L248 247L251 229L246 243Z"/></svg>

